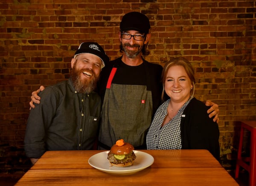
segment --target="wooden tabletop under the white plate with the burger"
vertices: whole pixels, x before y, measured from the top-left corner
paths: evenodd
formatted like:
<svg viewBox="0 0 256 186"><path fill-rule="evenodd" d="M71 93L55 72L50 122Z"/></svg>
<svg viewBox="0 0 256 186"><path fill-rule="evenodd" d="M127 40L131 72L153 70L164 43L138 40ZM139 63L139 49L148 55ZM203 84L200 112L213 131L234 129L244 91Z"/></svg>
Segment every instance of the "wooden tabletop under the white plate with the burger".
<svg viewBox="0 0 256 186"><path fill-rule="evenodd" d="M90 166L88 159L102 151L47 151L16 185L238 185L207 150L141 151L151 154L154 163L134 174Z"/></svg>

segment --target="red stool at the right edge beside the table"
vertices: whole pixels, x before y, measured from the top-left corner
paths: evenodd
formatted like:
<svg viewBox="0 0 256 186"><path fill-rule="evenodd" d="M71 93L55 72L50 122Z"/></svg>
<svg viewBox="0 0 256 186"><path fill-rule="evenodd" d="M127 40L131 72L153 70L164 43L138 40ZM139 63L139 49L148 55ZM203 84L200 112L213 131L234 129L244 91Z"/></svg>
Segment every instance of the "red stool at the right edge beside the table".
<svg viewBox="0 0 256 186"><path fill-rule="evenodd" d="M250 131L250 157L241 157L244 129ZM249 172L249 185L256 186L256 121L241 121L235 178L238 178L240 166Z"/></svg>

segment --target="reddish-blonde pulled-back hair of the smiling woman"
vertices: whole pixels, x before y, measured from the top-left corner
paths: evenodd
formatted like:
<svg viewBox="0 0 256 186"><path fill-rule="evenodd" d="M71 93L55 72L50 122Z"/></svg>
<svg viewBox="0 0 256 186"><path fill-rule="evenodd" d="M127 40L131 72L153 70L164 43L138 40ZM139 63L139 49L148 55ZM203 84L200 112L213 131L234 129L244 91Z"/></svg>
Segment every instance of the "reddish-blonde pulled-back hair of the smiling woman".
<svg viewBox="0 0 256 186"><path fill-rule="evenodd" d="M190 90L190 96L194 96L195 93L195 71L191 65L191 63L186 60L185 58L179 57L179 58L173 58L170 61L166 62L166 64L163 67L163 72L162 72L162 83L163 83L163 90L162 90L162 95L161 99L164 101L164 81L166 79L168 70L172 66L182 66L184 67L187 75L189 76L190 81L192 82L192 89Z"/></svg>

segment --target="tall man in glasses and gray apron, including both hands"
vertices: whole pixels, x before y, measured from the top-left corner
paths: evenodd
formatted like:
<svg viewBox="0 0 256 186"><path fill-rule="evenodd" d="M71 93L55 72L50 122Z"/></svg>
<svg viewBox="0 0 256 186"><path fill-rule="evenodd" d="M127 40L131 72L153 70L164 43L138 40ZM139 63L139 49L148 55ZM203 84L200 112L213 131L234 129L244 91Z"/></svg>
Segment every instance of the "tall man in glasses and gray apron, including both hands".
<svg viewBox="0 0 256 186"><path fill-rule="evenodd" d="M140 12L129 12L122 18L119 40L123 55L105 64L98 82L103 102L99 149L109 150L120 138L136 149L146 148L146 132L161 104L163 69L143 58L149 54L149 30L148 17ZM33 92L32 100L39 103L38 98L36 91ZM32 102L30 105L33 108ZM218 105L214 104L209 111L212 110L210 117L218 113ZM215 116L215 121L217 119Z"/></svg>

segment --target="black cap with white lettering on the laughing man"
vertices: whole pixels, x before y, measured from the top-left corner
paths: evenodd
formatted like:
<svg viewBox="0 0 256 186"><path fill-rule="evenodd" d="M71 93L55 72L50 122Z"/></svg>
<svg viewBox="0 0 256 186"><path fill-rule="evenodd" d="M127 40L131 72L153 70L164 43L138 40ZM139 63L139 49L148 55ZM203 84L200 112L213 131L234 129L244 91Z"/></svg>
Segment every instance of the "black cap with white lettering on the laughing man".
<svg viewBox="0 0 256 186"><path fill-rule="evenodd" d="M90 53L97 55L102 60L101 68L105 67L105 63L109 61L108 55L106 55L104 49L96 42L84 42L81 43L76 50L74 58L79 54Z"/></svg>

